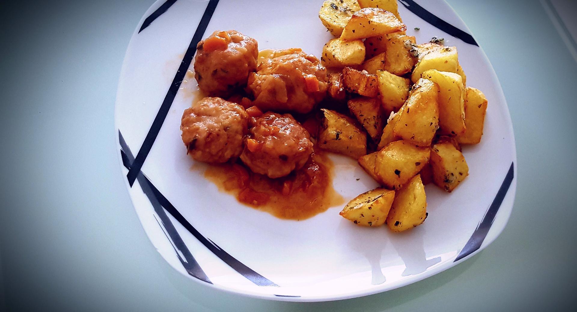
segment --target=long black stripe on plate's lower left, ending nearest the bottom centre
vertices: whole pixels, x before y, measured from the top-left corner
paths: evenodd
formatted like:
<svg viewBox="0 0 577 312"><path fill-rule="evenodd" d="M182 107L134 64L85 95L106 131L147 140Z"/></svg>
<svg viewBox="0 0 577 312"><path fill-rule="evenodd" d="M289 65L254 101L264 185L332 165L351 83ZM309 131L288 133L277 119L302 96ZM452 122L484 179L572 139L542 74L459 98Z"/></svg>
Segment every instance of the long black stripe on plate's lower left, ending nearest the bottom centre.
<svg viewBox="0 0 577 312"><path fill-rule="evenodd" d="M126 142L124 142L124 139L122 139L122 134L120 133L120 131L118 131L118 136L119 136L120 140L123 142L123 143L121 143L121 147L123 149L124 149L124 147L126 147L126 149L128 150L128 146L126 146ZM122 155L123 161L124 161L125 157L126 156L123 153L123 155ZM126 157L126 158L128 158L128 157ZM127 162L130 163L129 159L127 159ZM128 163L125 162L125 166L128 165ZM128 166L127 166L127 169L128 169ZM143 177L143 180L140 180L140 177ZM216 245L215 242L211 241L211 239L208 239L208 238L204 237L202 234L200 234L200 232L198 232L190 224L190 222L188 222L188 220L186 220L184 218L184 216L182 216L181 213L178 212L177 208L175 208L173 206L173 204L171 204L170 201L168 201L168 199L166 199L166 197L164 197L164 195L162 195L162 193L160 193L160 191L152 184L152 182L144 175L144 173L138 174L138 178L139 178L138 184L140 184L140 187L143 188L143 190L144 189L150 189L152 192L153 198L155 199L155 201L158 201L160 206L164 207L164 209L166 209L166 211L168 211L169 214L171 214L175 219L177 219L178 222L180 222L181 225L184 226L186 228L186 230L188 230L190 232L190 234L194 235L194 237L196 239L198 239L198 241L200 241L206 248L208 248L208 250L210 250L213 254L215 254L215 256L219 257L220 260L222 260L222 261L224 261L224 263L228 264L229 267L233 268L234 271L237 271L238 273L240 273L242 276L246 277L246 279L252 281L257 286L276 286L276 287L278 287L278 285L273 283L273 281L267 279L266 277L255 272L253 269L242 264L242 262L238 261L236 258L234 258L230 254L228 254L226 251L221 249L218 245ZM148 196L148 194L147 194L147 196ZM149 199L150 199L150 197L149 197ZM152 202L152 200L151 200L151 202ZM162 208L161 208L161 210L162 210ZM168 222L170 222L170 219L168 219ZM172 223L171 223L171 225L172 225ZM177 235L178 235L178 232L177 232ZM182 239L181 239L181 241L182 241Z"/></svg>

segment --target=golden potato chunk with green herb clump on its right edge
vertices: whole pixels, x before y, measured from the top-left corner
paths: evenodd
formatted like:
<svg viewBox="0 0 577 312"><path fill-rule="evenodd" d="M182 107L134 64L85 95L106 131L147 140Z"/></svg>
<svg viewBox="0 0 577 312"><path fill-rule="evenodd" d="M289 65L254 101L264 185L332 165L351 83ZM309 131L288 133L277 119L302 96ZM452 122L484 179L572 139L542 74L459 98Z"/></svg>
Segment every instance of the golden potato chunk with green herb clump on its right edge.
<svg viewBox="0 0 577 312"><path fill-rule="evenodd" d="M414 36L389 36L385 41L385 70L398 76L409 73L417 58L411 54L411 44L415 44Z"/></svg>

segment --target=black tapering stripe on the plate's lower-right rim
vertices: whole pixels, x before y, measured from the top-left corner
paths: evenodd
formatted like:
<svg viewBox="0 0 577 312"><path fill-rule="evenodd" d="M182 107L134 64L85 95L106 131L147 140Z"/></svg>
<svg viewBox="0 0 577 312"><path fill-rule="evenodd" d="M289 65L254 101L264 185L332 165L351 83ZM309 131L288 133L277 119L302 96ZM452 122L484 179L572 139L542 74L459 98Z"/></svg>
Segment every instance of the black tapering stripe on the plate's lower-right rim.
<svg viewBox="0 0 577 312"><path fill-rule="evenodd" d="M493 203L491 203L491 206L489 206L485 216L479 225L477 225L477 229L475 229L473 235L471 235L471 238L469 238L469 241L465 244L463 250L461 250L459 256L457 256L453 262L459 261L462 258L469 256L469 254L473 253L475 250L481 247L481 244L485 240L487 233L489 233L489 229L493 225L497 211L499 211L499 207L501 207L501 203L503 203L503 199L505 198L505 195L507 195L507 191L511 186L511 182L513 181L514 176L513 167L513 163L511 162L511 167L509 167L507 176L505 176L505 180L503 180L503 184L501 184L501 187L497 192L497 196L495 196L493 199Z"/></svg>

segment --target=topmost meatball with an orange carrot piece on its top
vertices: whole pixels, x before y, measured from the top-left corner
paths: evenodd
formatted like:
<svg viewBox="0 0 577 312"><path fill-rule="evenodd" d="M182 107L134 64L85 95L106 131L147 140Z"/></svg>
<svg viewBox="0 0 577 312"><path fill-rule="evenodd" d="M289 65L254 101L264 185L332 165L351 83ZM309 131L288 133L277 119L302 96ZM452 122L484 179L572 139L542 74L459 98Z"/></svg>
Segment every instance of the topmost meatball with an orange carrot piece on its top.
<svg viewBox="0 0 577 312"><path fill-rule="evenodd" d="M237 31L213 32L196 46L194 78L209 96L228 97L256 70L258 44Z"/></svg>

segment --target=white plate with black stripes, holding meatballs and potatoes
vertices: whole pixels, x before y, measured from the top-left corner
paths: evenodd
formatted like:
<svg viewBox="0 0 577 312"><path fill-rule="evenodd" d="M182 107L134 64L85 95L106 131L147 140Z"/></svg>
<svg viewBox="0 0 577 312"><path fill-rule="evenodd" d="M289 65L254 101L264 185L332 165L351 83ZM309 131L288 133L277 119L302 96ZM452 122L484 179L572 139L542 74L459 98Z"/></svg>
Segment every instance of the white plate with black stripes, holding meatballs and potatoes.
<svg viewBox="0 0 577 312"><path fill-rule="evenodd" d="M342 207L292 221L243 206L205 180L205 165L194 164L182 145L180 119L196 84L188 75L180 84L178 77L195 50L187 53L191 39L236 29L257 39L260 49L301 47L320 56L331 38L317 16L321 0L298 5L169 0L148 10L126 51L115 122L122 172L132 168L138 176L132 187L127 178L130 197L148 237L172 267L195 282L258 298L345 299L444 271L501 233L516 186L515 142L503 92L489 60L451 7L441 0L418 2L420 9L413 1L399 2L407 33L418 43L437 36L455 45L467 85L481 89L489 106L481 143L463 147L469 177L451 194L427 185L428 219L400 234L353 226L338 215ZM137 154L141 170L133 163ZM353 159L332 159L334 188L345 200L376 186Z"/></svg>

